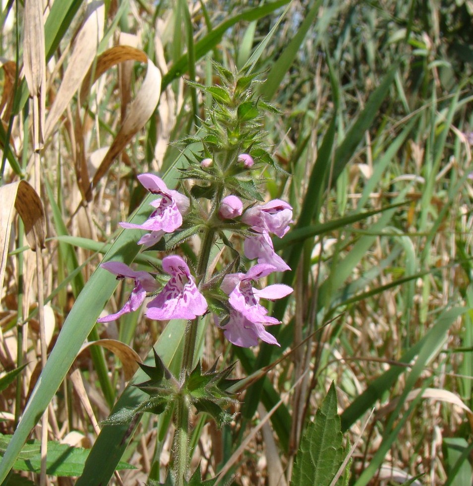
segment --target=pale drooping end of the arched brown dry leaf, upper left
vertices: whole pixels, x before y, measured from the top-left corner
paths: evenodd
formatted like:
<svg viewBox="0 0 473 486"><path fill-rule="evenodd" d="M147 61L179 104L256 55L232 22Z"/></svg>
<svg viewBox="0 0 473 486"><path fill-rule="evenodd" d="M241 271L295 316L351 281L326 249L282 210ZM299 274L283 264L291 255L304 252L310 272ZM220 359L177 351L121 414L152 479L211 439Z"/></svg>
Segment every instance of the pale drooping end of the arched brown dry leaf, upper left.
<svg viewBox="0 0 473 486"><path fill-rule="evenodd" d="M156 106L158 105L159 96L161 94L161 72L148 59L148 70L146 77L141 85L141 88L136 95L136 98L130 105L129 112L123 121L123 124L118 131L109 151L105 155L104 160L100 164L97 172L94 175L92 184L87 191L87 199L92 198L92 189L97 185L105 173L109 170L114 159L125 148L126 144L132 137L145 125L145 123L153 115Z"/></svg>

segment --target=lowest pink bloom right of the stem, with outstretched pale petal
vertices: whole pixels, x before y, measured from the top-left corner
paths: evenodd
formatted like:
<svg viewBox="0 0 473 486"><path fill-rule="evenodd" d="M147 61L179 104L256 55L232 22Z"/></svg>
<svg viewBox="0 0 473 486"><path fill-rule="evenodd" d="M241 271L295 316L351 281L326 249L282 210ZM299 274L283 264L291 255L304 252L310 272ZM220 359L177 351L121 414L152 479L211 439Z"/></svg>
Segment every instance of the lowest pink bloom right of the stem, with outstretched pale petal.
<svg viewBox="0 0 473 486"><path fill-rule="evenodd" d="M225 337L236 346L248 348L258 344L258 338L269 344L279 346L276 338L267 332L264 326L280 324L281 322L268 316L268 310L259 304L260 299L282 299L293 289L287 285L268 285L258 290L252 286L253 280L258 280L276 271L272 265L261 263L244 273L227 275L222 282L222 290L229 295L229 321L224 327ZM220 324L219 324L220 325Z"/></svg>

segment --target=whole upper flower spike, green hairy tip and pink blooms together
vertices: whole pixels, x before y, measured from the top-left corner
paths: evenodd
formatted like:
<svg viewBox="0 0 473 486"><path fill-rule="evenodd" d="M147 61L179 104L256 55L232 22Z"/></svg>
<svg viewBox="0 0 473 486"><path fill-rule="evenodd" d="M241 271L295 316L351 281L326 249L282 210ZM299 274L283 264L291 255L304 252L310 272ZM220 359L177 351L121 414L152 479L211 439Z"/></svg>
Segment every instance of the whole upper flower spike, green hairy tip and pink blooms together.
<svg viewBox="0 0 473 486"><path fill-rule="evenodd" d="M222 73L231 78L228 72ZM141 174L139 182L157 196L151 202L153 211L142 224L120 223L125 229L145 230L138 243L148 248L162 239L167 248L174 248L190 236L200 234L203 247L197 270L189 268L179 255L166 256L162 269L169 279L164 282L161 276L160 287L150 273L134 271L119 262L102 264L117 278L133 279L134 288L118 312L100 318L99 322L138 309L148 297L145 314L150 319L195 319L211 311L216 324L233 344L249 347L261 340L279 345L265 327L280 321L268 315L260 300L281 299L293 289L287 285L265 288L254 285L273 272L290 270L274 250L271 238L283 238L289 231L293 210L280 199L265 202L254 183L255 169L272 164L262 148L259 116L259 109L272 108L263 101L251 100L248 88L251 79L246 76L229 82L228 92L233 90L232 95L217 87L198 85L214 97L218 116L214 113L211 122L203 123L207 134L202 139L183 140L183 143L199 141L203 146L197 156L200 160L189 160L189 167L181 171L183 180L194 181L192 187L184 195L169 189L156 175ZM210 203L197 202L198 199L208 199ZM229 231L244 240L244 256L256 263L248 269L240 258L235 258L226 270L206 281L210 247L218 238L231 248L233 255L237 251L235 242L227 238Z"/></svg>

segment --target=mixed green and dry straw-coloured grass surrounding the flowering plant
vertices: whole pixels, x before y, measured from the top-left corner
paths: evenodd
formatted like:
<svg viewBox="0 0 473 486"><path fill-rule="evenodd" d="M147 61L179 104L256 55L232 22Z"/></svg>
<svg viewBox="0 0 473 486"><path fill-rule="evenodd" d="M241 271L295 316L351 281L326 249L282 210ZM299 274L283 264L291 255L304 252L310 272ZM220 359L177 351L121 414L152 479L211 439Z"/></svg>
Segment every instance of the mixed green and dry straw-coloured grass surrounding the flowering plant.
<svg viewBox="0 0 473 486"><path fill-rule="evenodd" d="M234 424L195 417L193 466L204 479L224 468L222 484L289 484L334 381L352 484L472 484L472 2L45 3L43 50L36 2L7 1L0 18L0 426L16 430L0 442L0 482L14 466L35 473L8 484L38 483L28 458L39 446L23 443L33 427L45 440L46 424L59 457L70 453L59 442L91 449L86 462L80 450L49 457L52 484L107 484L116 468L112 483L165 480L169 415L135 429L98 423L138 399L127 383L152 346L179 369L183 323L135 313L95 326L129 290L114 293L96 268L104 255L158 261L118 227L148 211L135 176L176 184L185 157L172 142L195 133L212 103L184 80L211 85L212 61L249 61L263 72L258 95L283 112L264 128L290 176L265 175L268 196L295 210L274 242L295 292L273 308L281 348L232 347L210 320L202 328L204 367L221 356L252 379ZM120 45L131 47L110 51ZM33 187L4 189L20 179L44 215ZM22 219L9 212L15 200ZM84 349L87 337L102 346Z"/></svg>

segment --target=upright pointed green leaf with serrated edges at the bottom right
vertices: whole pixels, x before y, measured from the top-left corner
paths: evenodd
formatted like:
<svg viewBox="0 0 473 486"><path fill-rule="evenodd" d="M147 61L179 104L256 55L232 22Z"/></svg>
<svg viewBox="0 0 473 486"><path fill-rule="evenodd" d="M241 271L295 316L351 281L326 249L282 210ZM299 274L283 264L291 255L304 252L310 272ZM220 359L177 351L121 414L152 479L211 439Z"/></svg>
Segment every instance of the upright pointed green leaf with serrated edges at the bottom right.
<svg viewBox="0 0 473 486"><path fill-rule="evenodd" d="M308 425L300 441L291 486L330 485L344 460L342 439L332 382L314 422Z"/></svg>

